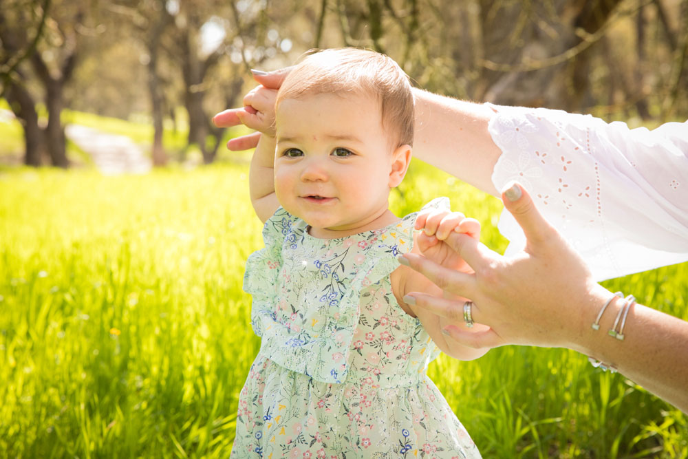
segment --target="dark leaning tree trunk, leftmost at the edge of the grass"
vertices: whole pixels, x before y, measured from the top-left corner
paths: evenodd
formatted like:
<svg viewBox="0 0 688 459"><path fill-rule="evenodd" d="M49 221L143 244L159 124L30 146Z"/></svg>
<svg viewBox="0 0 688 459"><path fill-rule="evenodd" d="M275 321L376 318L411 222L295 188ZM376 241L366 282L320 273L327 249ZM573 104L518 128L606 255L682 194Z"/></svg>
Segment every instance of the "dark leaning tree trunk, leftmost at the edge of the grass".
<svg viewBox="0 0 688 459"><path fill-rule="evenodd" d="M36 113L36 103L25 87L17 84L10 85L6 92L8 103L24 129L24 164L40 167L43 164L45 142L43 131L39 127L39 116Z"/></svg>

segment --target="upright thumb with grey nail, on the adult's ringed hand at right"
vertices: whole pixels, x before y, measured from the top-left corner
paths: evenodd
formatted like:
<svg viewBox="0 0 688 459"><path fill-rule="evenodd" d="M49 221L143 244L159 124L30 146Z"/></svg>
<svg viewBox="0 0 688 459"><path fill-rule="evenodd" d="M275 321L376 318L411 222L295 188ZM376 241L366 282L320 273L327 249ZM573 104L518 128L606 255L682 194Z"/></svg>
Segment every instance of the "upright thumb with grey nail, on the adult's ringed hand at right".
<svg viewBox="0 0 688 459"><path fill-rule="evenodd" d="M523 229L530 244L544 241L555 228L537 210L528 191L518 182L509 182L502 189L504 207Z"/></svg>

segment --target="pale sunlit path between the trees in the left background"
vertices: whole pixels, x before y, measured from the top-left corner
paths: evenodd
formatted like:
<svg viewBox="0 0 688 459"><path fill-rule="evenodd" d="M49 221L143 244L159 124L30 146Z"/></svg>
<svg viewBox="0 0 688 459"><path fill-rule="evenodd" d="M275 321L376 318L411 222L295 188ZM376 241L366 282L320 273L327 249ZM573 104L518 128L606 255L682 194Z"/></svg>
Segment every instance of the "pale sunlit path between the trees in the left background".
<svg viewBox="0 0 688 459"><path fill-rule="evenodd" d="M80 125L67 125L65 134L88 153L98 170L106 175L147 173L151 170L150 158L126 136L108 134Z"/></svg>

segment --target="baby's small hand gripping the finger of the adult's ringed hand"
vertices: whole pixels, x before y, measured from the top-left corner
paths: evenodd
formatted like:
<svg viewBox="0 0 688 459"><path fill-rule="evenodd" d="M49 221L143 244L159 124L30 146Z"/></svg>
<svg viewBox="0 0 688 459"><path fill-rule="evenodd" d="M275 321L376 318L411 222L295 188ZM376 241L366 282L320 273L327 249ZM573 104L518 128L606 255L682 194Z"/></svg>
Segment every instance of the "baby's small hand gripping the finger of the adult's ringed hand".
<svg viewBox="0 0 688 459"><path fill-rule="evenodd" d="M471 266L453 248L444 243L444 239L447 239L452 231L480 239L480 222L475 218L466 218L460 212L427 209L418 214L415 227L422 230L416 244L424 257L447 268L464 273L473 272Z"/></svg>

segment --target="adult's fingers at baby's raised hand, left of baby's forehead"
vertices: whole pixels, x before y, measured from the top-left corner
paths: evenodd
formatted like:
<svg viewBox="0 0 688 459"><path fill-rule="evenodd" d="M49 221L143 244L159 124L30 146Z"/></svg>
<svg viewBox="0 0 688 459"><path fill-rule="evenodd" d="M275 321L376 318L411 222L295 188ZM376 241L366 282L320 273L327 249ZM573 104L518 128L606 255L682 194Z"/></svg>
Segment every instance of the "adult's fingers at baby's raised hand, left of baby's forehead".
<svg viewBox="0 0 688 459"><path fill-rule="evenodd" d="M265 109L266 104L272 101L272 105L275 105L275 96L277 95L277 89L281 86L284 78L287 74L291 72L292 67L284 67L283 69L275 70L274 72L261 72L260 70L251 70L253 78L255 81L260 83L259 86L252 89L246 96L244 96L244 107L236 109L228 109L219 112L219 114L213 116L213 122L217 127L232 127L237 125L244 125L248 120L249 123L252 122L252 117L250 115L256 115L257 112L261 111L259 107ZM273 90L272 92L270 90ZM252 96L250 100L246 98ZM259 104L259 107L252 105L253 103ZM248 127L253 128L251 125ZM246 136L240 136L237 138L230 139L227 142L227 148L232 151L241 151L255 148L258 145L258 139L260 138L260 131L254 132L252 134L247 134Z"/></svg>

